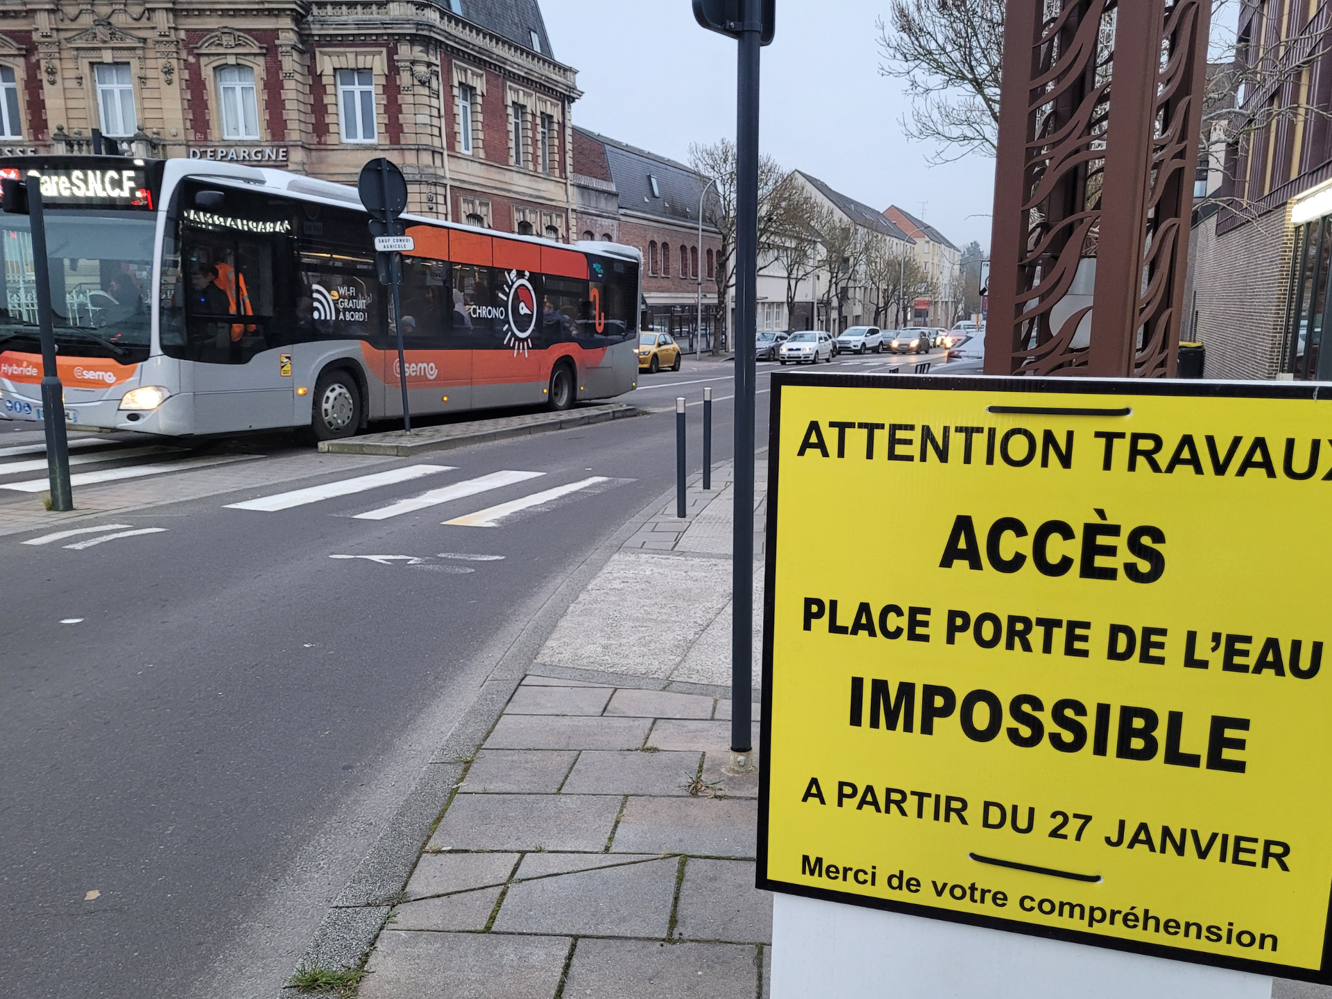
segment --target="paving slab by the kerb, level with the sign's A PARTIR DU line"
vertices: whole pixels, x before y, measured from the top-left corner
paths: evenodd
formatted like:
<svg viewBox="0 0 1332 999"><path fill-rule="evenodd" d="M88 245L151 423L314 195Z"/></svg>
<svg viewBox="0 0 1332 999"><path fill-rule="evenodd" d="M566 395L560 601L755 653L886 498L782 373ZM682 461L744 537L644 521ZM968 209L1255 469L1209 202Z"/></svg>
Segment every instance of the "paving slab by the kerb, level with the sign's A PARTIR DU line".
<svg viewBox="0 0 1332 999"><path fill-rule="evenodd" d="M618 813L619 799L603 795L460 794L430 836L430 847L594 852L606 846Z"/></svg>

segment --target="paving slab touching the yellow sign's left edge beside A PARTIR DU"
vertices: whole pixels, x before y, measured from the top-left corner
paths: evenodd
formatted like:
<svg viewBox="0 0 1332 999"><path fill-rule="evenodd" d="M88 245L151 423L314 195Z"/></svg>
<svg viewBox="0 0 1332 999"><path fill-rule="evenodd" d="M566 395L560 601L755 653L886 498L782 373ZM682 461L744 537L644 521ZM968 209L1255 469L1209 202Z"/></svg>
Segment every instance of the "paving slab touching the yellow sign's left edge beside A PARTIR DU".
<svg viewBox="0 0 1332 999"><path fill-rule="evenodd" d="M754 856L758 802L739 798L630 798L611 851Z"/></svg>

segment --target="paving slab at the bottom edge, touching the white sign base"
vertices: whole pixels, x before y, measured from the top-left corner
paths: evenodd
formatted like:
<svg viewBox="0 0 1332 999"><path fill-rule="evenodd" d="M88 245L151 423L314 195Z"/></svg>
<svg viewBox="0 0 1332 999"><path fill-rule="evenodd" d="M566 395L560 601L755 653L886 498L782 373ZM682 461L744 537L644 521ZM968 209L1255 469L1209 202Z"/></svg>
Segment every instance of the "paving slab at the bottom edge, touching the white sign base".
<svg viewBox="0 0 1332 999"><path fill-rule="evenodd" d="M578 940L565 995L577 999L738 999L758 992L754 947Z"/></svg>

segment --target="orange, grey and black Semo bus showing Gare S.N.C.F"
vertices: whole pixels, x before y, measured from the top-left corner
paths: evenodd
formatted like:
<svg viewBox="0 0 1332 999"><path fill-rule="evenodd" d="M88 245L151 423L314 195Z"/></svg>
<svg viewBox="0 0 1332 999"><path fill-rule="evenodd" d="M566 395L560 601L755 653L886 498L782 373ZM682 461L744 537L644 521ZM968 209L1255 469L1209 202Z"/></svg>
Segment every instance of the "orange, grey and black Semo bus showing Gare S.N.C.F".
<svg viewBox="0 0 1332 999"><path fill-rule="evenodd" d="M170 437L496 406L567 409L638 376L642 257L404 216L400 372L390 289L354 188L186 159L32 156L65 421ZM0 416L41 420L25 214L0 213Z"/></svg>

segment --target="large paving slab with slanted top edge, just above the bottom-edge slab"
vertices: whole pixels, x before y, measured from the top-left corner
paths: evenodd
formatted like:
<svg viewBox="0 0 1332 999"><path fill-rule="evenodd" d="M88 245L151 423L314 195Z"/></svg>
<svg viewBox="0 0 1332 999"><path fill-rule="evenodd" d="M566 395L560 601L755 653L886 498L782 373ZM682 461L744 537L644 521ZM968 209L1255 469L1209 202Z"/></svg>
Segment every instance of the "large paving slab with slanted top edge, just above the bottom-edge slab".
<svg viewBox="0 0 1332 999"><path fill-rule="evenodd" d="M510 886L497 932L613 936L666 935L677 858L602 867Z"/></svg>

